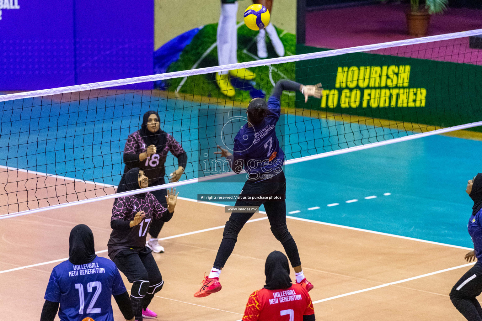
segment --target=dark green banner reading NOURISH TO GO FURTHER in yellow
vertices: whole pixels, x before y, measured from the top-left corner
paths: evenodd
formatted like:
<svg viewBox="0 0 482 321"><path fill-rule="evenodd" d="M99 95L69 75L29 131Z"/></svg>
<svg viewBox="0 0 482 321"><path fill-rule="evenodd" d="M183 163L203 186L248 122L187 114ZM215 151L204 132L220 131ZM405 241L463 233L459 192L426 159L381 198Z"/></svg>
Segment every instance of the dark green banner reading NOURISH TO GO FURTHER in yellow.
<svg viewBox="0 0 482 321"><path fill-rule="evenodd" d="M297 108L440 127L482 120L480 65L350 53L297 62L296 79L324 89Z"/></svg>

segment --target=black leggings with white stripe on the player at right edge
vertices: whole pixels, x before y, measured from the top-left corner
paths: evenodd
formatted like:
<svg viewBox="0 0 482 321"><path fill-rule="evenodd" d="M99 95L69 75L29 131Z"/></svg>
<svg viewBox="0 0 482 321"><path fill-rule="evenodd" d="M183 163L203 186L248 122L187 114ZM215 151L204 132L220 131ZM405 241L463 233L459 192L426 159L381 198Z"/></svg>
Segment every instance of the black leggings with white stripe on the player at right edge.
<svg viewBox="0 0 482 321"><path fill-rule="evenodd" d="M477 262L458 280L450 292L455 308L469 321L482 321L482 308L476 297L482 292L482 265Z"/></svg>

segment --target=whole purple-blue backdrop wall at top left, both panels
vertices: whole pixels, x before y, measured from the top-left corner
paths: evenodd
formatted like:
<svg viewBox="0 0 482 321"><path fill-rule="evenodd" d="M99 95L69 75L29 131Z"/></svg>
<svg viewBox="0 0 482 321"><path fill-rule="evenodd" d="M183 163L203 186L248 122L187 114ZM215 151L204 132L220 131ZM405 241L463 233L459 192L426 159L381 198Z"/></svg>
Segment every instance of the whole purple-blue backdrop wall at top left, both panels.
<svg viewBox="0 0 482 321"><path fill-rule="evenodd" d="M19 8L1 10L0 91L153 74L153 0L10 2Z"/></svg>

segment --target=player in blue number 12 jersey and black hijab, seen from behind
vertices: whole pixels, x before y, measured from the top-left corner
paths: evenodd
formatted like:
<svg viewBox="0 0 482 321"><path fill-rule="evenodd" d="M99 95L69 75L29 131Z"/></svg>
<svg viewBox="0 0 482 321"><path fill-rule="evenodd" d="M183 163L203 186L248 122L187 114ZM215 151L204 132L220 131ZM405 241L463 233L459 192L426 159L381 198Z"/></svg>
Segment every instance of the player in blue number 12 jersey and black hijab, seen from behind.
<svg viewBox="0 0 482 321"><path fill-rule="evenodd" d="M134 320L129 294L114 262L97 257L94 235L84 224L70 231L68 260L50 275L40 321L54 321L57 309L61 321L114 321L111 295L124 318Z"/></svg>

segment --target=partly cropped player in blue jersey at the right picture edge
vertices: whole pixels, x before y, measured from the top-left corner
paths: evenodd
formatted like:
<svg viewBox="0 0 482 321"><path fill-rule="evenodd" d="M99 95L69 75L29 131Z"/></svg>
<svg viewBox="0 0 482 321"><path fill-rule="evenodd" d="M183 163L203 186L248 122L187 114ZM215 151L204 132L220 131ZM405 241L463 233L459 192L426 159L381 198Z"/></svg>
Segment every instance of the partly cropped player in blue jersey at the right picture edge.
<svg viewBox="0 0 482 321"><path fill-rule="evenodd" d="M467 182L466 193L474 201L467 229L474 249L465 255L477 263L458 280L450 292L455 308L469 321L482 321L482 308L476 297L482 293L482 173Z"/></svg>

